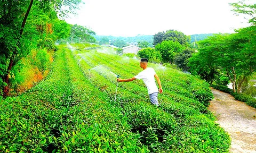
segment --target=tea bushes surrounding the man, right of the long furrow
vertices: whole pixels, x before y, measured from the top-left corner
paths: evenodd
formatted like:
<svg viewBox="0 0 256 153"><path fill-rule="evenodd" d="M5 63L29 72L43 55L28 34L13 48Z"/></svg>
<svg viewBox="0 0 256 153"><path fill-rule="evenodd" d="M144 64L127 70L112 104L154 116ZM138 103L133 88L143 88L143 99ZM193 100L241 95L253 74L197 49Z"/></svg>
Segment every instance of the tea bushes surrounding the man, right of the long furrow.
<svg viewBox="0 0 256 153"><path fill-rule="evenodd" d="M165 94L159 94L161 108L149 104L145 85L138 80L118 83L117 102L115 102L116 76L110 72L131 78L141 71L138 61L123 60L120 56L106 56L95 52L83 53L83 50L77 50L73 55L77 55L75 58L77 62L79 61L86 78L90 78L95 88L106 93L107 97L113 100L113 105L122 108L121 112L129 118L127 121L132 126L132 132L139 134L139 143L147 147L150 152L228 151L230 145L228 135L223 134L223 130L217 128L213 120L204 116L211 116L204 106L208 105L207 100L212 98L209 84L169 68L162 74L163 69L158 68L159 65L149 63L164 85ZM103 66L97 66L99 62ZM89 69L91 70L88 71ZM174 89L175 92L172 92ZM202 135L202 132L205 134Z"/></svg>

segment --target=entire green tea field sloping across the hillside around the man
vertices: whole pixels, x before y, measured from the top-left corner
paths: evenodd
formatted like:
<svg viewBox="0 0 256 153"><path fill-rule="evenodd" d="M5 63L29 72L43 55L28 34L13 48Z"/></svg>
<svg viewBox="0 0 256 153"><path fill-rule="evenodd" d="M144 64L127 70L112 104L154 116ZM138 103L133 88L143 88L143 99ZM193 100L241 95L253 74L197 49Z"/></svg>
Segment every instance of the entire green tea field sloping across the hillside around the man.
<svg viewBox="0 0 256 153"><path fill-rule="evenodd" d="M87 49L88 50L87 50ZM92 49L96 48L96 49ZM209 84L158 64L161 107L150 104L139 60L110 48L59 46L44 81L1 100L4 152L228 152L230 138L208 111ZM115 101L115 91L117 97Z"/></svg>

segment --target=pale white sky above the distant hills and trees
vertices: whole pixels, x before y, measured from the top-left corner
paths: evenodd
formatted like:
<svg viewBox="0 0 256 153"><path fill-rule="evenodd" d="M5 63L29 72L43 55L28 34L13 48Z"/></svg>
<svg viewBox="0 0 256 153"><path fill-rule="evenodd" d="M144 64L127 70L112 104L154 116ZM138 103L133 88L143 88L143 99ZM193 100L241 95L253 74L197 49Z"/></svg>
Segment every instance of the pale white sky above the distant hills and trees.
<svg viewBox="0 0 256 153"><path fill-rule="evenodd" d="M185 35L233 33L249 27L245 16L234 15L229 3L239 0L83 0L65 19L86 26L96 35L134 37L178 30ZM256 0L250 0L251 2Z"/></svg>

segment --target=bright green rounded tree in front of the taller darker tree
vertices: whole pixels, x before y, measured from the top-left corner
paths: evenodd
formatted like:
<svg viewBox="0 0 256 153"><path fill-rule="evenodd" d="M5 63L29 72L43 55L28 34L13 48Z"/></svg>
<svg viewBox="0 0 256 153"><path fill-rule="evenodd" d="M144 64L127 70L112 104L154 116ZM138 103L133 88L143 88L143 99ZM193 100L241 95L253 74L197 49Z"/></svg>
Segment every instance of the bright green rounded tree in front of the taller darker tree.
<svg viewBox="0 0 256 153"><path fill-rule="evenodd" d="M178 41L163 41L155 46L157 52L161 53L163 62L173 63L175 55L183 50L183 46Z"/></svg>

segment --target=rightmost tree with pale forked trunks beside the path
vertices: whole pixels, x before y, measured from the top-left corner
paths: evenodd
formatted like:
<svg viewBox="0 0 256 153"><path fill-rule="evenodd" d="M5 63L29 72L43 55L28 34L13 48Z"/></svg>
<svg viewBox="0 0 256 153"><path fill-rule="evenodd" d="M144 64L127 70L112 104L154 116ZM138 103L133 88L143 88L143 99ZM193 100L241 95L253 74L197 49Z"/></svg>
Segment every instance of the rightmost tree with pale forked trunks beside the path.
<svg viewBox="0 0 256 153"><path fill-rule="evenodd" d="M230 81L233 83L234 92L242 91L243 83L253 75L256 70L256 26L237 30L227 37L228 47L226 54L219 53L222 58L222 67L226 69ZM225 59L230 59L224 61ZM222 61L223 60L223 61ZM231 66L231 68L230 68ZM232 72L231 75L229 72Z"/></svg>

